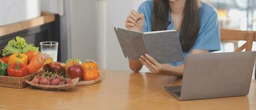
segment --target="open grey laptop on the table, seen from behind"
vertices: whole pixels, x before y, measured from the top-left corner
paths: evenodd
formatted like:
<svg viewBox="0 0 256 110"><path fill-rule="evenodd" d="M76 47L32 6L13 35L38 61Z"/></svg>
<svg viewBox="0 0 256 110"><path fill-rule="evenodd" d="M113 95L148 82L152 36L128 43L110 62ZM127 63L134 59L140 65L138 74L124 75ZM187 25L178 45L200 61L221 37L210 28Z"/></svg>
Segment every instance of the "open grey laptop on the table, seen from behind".
<svg viewBox="0 0 256 110"><path fill-rule="evenodd" d="M182 86L165 90L179 100L246 96L256 52L188 54Z"/></svg>

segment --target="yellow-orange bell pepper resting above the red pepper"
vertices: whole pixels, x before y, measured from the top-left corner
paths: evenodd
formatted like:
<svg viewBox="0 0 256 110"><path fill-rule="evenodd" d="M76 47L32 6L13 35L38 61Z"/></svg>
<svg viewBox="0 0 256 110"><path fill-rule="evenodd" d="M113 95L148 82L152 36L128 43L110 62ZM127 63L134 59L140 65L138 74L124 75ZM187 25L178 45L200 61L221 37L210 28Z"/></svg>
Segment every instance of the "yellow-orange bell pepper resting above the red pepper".
<svg viewBox="0 0 256 110"><path fill-rule="evenodd" d="M8 64L16 63L17 61L21 62L22 64L28 64L28 56L22 53L14 53L9 57Z"/></svg>

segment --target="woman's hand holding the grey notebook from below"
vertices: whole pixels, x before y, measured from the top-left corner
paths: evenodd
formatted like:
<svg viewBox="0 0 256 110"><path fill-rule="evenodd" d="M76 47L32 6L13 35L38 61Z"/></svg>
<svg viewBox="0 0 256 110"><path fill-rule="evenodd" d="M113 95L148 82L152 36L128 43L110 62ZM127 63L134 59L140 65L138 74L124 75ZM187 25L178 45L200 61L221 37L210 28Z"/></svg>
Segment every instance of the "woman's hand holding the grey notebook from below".
<svg viewBox="0 0 256 110"><path fill-rule="evenodd" d="M149 54L141 56L139 60L142 64L146 65L146 67L149 68L153 74L157 74L163 70L163 64L158 63L156 59L151 57Z"/></svg>

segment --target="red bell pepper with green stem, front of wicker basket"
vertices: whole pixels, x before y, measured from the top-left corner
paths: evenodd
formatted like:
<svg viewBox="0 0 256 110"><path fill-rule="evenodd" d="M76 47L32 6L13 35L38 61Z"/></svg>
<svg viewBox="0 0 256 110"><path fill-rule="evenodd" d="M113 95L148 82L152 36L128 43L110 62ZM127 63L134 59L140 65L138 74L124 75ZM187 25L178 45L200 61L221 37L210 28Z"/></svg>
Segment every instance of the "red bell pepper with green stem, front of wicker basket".
<svg viewBox="0 0 256 110"><path fill-rule="evenodd" d="M8 69L7 73L8 76L12 77L23 77L26 76L28 72L27 65L20 63L20 61L17 61L17 63L11 64Z"/></svg>

